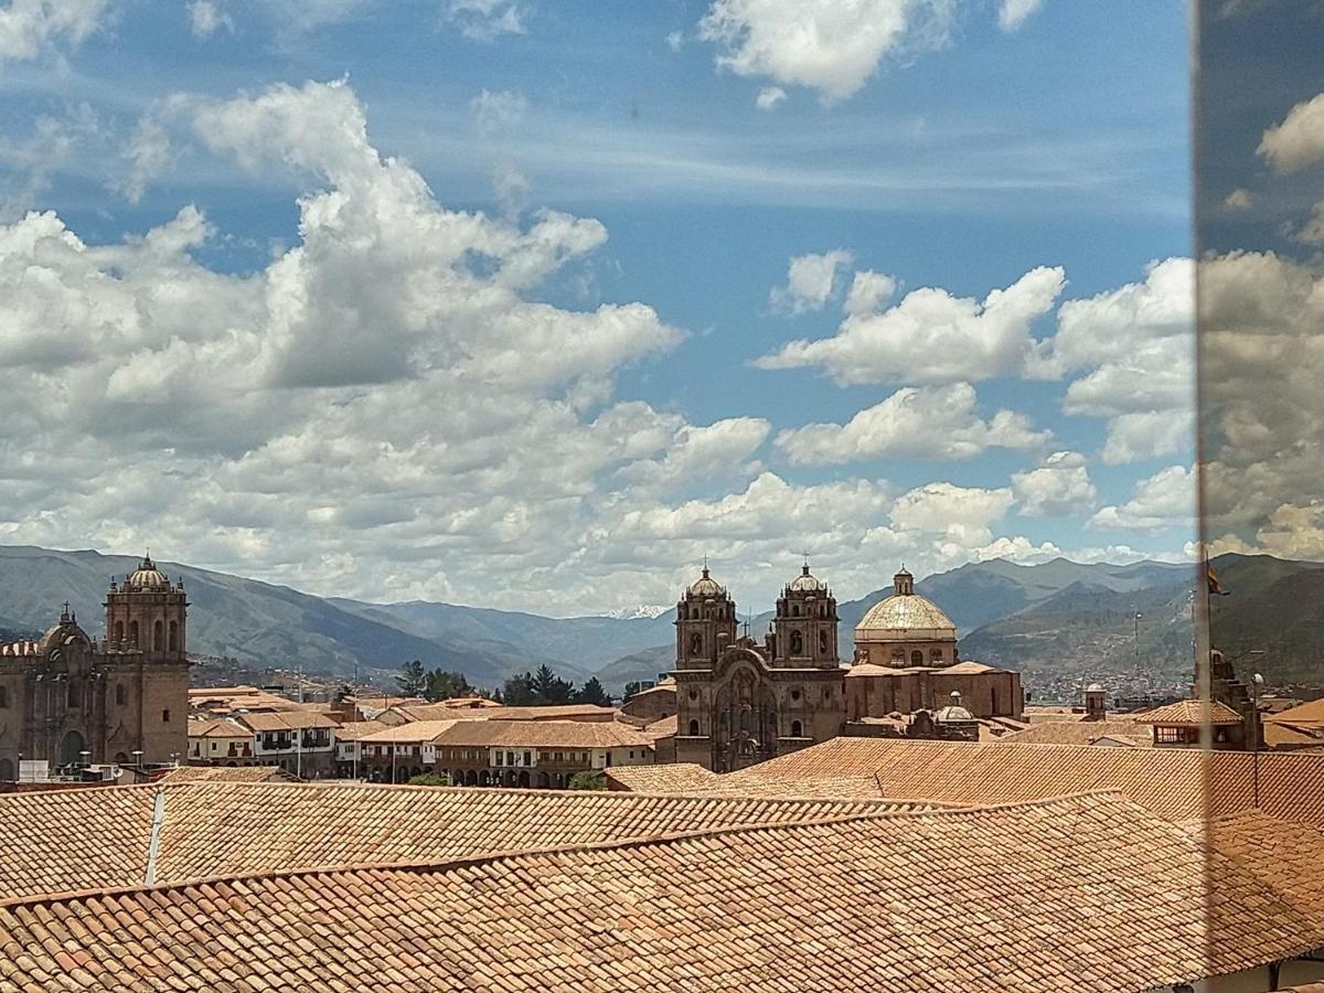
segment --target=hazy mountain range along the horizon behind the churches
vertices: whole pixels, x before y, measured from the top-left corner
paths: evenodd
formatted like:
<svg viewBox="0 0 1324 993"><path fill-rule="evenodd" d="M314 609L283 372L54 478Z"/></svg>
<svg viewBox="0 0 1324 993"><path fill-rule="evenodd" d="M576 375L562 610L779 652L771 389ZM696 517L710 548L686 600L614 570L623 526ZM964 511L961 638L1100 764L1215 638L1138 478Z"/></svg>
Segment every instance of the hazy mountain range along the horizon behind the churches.
<svg viewBox="0 0 1324 993"><path fill-rule="evenodd" d="M40 632L68 600L89 633L101 634L111 576L136 565L134 556L0 545L0 629ZM417 658L461 671L477 686L498 686L545 663L576 683L597 675L618 692L629 681L657 678L674 658L670 610L555 618L426 601L372 604L180 563L159 565L188 591L189 650L221 659L236 678L302 669L385 682ZM1280 682L1324 683L1324 564L1226 555L1214 565L1231 591L1213 602L1215 643L1230 653L1262 649L1259 667ZM937 602L964 634L963 657L1019 669L1030 686L1104 678L1137 662L1178 685L1189 681L1194 576L1192 565L1157 561L992 560L928 576L916 592ZM854 626L891 592L884 587L838 604L843 659L854 651ZM761 636L771 618L771 612L757 614L751 633Z"/></svg>

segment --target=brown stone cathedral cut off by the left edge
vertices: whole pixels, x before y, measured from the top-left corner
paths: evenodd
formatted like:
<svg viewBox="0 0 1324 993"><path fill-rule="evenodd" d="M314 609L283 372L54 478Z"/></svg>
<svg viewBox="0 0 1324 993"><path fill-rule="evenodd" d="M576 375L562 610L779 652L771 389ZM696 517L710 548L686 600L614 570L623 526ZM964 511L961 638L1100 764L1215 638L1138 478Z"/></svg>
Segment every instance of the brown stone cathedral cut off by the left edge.
<svg viewBox="0 0 1324 993"><path fill-rule="evenodd" d="M20 761L166 763L188 748L188 602L151 557L106 593L94 641L65 604L38 641L0 646L0 781Z"/></svg>

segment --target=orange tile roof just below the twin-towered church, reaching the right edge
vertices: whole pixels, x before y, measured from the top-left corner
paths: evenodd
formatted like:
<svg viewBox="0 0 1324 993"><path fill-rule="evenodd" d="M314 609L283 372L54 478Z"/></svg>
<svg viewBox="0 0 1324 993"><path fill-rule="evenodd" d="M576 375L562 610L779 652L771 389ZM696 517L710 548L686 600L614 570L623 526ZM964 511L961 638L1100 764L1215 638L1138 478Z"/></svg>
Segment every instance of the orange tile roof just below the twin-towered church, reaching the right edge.
<svg viewBox="0 0 1324 993"><path fill-rule="evenodd" d="M1324 755L1197 748L963 744L834 737L724 779L876 776L898 800L1006 804L1079 789L1117 789L1160 817L1186 821L1246 810L1255 779L1266 813L1324 825ZM1206 790L1207 784L1211 792Z"/></svg>

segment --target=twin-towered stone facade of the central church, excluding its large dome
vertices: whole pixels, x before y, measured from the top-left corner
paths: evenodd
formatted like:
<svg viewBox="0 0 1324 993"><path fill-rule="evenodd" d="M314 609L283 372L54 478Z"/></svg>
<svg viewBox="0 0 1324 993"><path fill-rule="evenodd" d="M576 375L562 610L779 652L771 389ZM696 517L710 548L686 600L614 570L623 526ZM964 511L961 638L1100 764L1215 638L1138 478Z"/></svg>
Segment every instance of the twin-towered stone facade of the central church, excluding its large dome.
<svg viewBox="0 0 1324 993"><path fill-rule="evenodd" d="M677 761L730 772L841 733L837 600L808 564L761 643L737 637L735 600L704 567L677 604L675 653Z"/></svg>

